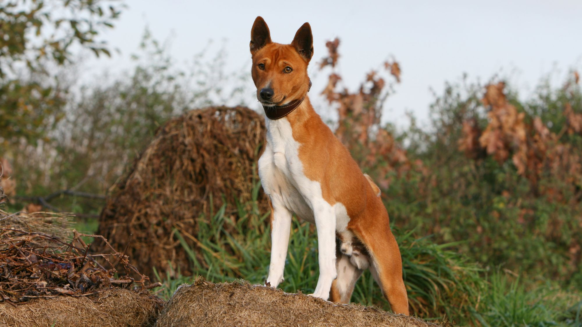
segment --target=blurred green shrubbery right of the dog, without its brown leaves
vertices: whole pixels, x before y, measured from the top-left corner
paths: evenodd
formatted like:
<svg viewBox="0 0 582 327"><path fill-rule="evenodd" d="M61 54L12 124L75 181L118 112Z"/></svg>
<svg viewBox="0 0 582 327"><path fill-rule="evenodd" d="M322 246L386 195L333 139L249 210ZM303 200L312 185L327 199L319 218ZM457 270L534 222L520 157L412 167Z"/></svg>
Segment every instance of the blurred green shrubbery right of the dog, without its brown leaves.
<svg viewBox="0 0 582 327"><path fill-rule="evenodd" d="M535 179L520 173L511 156L499 162L482 149L474 158L459 150L463 122L474 119L481 130L488 125L481 90L448 85L432 106L429 129L412 126L400 136L410 141L410 161L427 169L393 173L383 190L392 221L418 235L434 234L436 243L463 241L456 249L484 266L582 287L582 133L570 130L565 119L567 106L582 113L580 86L568 81L563 88L540 87L527 101L507 92L524 114L528 142L537 137L530 130L535 116L555 133L548 152L532 152L541 158L540 166L528 168ZM563 152L552 152L558 147ZM529 151L538 150L530 144Z"/></svg>

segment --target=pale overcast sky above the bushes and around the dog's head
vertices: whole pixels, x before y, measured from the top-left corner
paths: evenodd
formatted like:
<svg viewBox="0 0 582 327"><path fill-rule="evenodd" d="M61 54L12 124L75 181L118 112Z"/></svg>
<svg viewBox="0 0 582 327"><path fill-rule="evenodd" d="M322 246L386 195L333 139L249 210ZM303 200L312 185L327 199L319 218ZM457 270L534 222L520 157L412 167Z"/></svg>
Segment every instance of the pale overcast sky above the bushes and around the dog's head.
<svg viewBox="0 0 582 327"><path fill-rule="evenodd" d="M86 74L102 69L129 70L145 26L158 40L171 38L171 54L186 62L208 40L226 40L227 70L249 66L250 29L264 17L275 42L292 41L304 22L311 24L314 58L327 54L325 41L339 37L339 73L347 87L356 88L365 73L387 58L402 67L402 83L386 102L384 121L406 122L412 111L425 121L445 81L485 82L494 74L509 78L521 96L531 94L538 81L554 73L558 85L570 69L582 67L582 1L185 1L127 0L115 29L105 33L120 55L91 59ZM327 83L317 75L310 97ZM249 85L251 85L249 74ZM324 113L324 102L315 99ZM249 105L260 108L252 94Z"/></svg>

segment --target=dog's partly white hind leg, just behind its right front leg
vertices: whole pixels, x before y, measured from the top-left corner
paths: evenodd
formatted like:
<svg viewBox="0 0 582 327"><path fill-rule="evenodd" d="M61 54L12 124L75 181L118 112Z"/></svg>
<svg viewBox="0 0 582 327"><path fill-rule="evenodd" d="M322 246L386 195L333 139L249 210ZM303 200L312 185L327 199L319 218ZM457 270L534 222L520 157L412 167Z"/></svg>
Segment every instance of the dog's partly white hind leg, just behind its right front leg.
<svg viewBox="0 0 582 327"><path fill-rule="evenodd" d="M350 262L350 257L338 252L338 278L333 280L329 300L339 303L350 303L354 286L362 271Z"/></svg>

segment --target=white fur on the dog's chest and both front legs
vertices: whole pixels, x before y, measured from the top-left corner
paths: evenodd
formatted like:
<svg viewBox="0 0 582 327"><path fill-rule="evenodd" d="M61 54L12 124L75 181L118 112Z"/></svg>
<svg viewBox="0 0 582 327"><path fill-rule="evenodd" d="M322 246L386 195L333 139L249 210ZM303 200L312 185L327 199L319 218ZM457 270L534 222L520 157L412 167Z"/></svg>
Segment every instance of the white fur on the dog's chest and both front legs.
<svg viewBox="0 0 582 327"><path fill-rule="evenodd" d="M289 219L286 214L278 212L285 208L307 221L315 222L320 276L312 295L327 300L332 281L337 276L335 232L346 230L350 218L343 204L330 205L322 197L321 184L305 176L303 163L299 159L300 144L294 140L287 118L266 118L265 125L267 145L258 161L258 172L262 187L271 197L276 213L271 233L271 265L267 281L276 287L283 278L285 257L281 260L281 253L284 248L286 255L289 229L282 222Z"/></svg>

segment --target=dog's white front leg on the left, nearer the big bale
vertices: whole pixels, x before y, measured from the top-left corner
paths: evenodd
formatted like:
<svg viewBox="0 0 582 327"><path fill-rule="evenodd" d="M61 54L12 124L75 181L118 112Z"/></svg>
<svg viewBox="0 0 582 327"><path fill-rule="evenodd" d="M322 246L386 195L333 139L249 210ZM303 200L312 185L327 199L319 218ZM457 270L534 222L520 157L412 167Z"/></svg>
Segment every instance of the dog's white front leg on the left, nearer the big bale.
<svg viewBox="0 0 582 327"><path fill-rule="evenodd" d="M275 200L275 199L273 199ZM271 212L271 264L267 286L276 288L283 282L283 270L289 245L289 232L291 228L292 213L275 200L272 201Z"/></svg>

